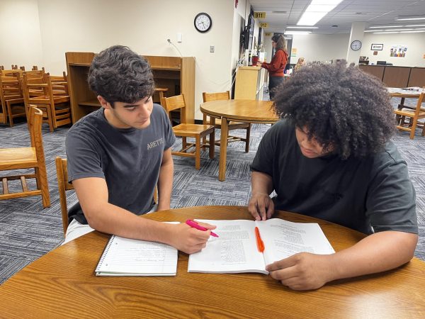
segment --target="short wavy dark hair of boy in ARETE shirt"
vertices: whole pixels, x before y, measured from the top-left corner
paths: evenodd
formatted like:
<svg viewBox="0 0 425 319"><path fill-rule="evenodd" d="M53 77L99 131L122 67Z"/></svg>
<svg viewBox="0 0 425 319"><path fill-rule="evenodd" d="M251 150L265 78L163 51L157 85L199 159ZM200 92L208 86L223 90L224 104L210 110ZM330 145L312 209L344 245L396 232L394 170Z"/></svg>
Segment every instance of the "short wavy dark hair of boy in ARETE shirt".
<svg viewBox="0 0 425 319"><path fill-rule="evenodd" d="M145 57L129 47L113 45L96 55L89 69L90 89L111 103L134 103L155 90L154 77Z"/></svg>

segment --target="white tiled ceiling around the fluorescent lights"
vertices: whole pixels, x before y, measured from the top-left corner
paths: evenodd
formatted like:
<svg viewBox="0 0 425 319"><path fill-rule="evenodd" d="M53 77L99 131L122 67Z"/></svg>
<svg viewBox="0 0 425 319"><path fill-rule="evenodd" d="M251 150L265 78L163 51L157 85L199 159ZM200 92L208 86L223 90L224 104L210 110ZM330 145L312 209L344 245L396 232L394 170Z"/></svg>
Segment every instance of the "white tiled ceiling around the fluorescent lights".
<svg viewBox="0 0 425 319"><path fill-rule="evenodd" d="M296 26L311 0L250 0L254 11L266 11L266 32L282 33L287 26ZM271 11L281 11L271 13ZM419 21L395 21L397 16L425 15L425 0L344 0L315 26L312 33L350 33L351 23L366 22L370 26L405 26L425 24ZM336 27L332 27L336 26ZM421 27L424 28L424 27ZM289 30L289 29L288 29ZM293 29L297 30L297 29ZM425 39L425 33L424 34Z"/></svg>

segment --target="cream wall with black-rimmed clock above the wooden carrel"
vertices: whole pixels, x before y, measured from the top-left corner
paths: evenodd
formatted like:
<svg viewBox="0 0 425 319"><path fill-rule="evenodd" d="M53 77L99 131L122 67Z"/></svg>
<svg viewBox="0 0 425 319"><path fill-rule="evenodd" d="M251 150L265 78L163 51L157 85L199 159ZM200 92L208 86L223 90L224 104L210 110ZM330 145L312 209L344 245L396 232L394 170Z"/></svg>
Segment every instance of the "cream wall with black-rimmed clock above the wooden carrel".
<svg viewBox="0 0 425 319"><path fill-rule="evenodd" d="M203 91L223 91L231 84L233 1L228 0L38 0L44 62L52 72L65 68L64 52L99 52L128 45L140 55L196 57L195 117ZM208 33L193 26L197 13L212 18ZM177 33L183 42L177 43ZM210 45L215 52L210 53Z"/></svg>

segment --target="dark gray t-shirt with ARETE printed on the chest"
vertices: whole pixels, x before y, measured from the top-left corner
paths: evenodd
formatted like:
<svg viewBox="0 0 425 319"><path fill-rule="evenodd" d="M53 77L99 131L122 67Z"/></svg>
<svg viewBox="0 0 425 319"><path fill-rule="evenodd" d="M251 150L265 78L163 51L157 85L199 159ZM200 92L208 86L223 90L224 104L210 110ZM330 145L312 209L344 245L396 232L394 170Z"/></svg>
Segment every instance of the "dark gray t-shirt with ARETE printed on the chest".
<svg viewBox="0 0 425 319"><path fill-rule="evenodd" d="M176 140L171 123L157 104L150 125L142 130L114 128L103 111L100 108L81 118L67 133L69 181L103 178L109 203L141 215L153 206L164 150ZM69 209L68 217L87 224L79 203Z"/></svg>

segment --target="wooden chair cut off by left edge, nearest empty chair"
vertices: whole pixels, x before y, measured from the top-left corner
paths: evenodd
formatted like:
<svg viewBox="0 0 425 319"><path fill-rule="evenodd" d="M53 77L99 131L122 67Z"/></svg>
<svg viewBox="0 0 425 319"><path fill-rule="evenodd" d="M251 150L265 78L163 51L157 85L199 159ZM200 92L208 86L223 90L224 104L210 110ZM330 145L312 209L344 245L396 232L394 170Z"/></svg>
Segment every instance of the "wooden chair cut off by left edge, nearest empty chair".
<svg viewBox="0 0 425 319"><path fill-rule="evenodd" d="M35 169L35 174L18 174L1 177L3 184L3 194L0 200L27 196L42 197L42 206L50 207L49 186L47 184L47 172L42 146L42 111L33 106L30 107L28 126L30 130L31 147L0 148L0 171L12 169ZM29 190L27 179L35 179L36 190ZM9 193L8 181L21 180L22 191Z"/></svg>

